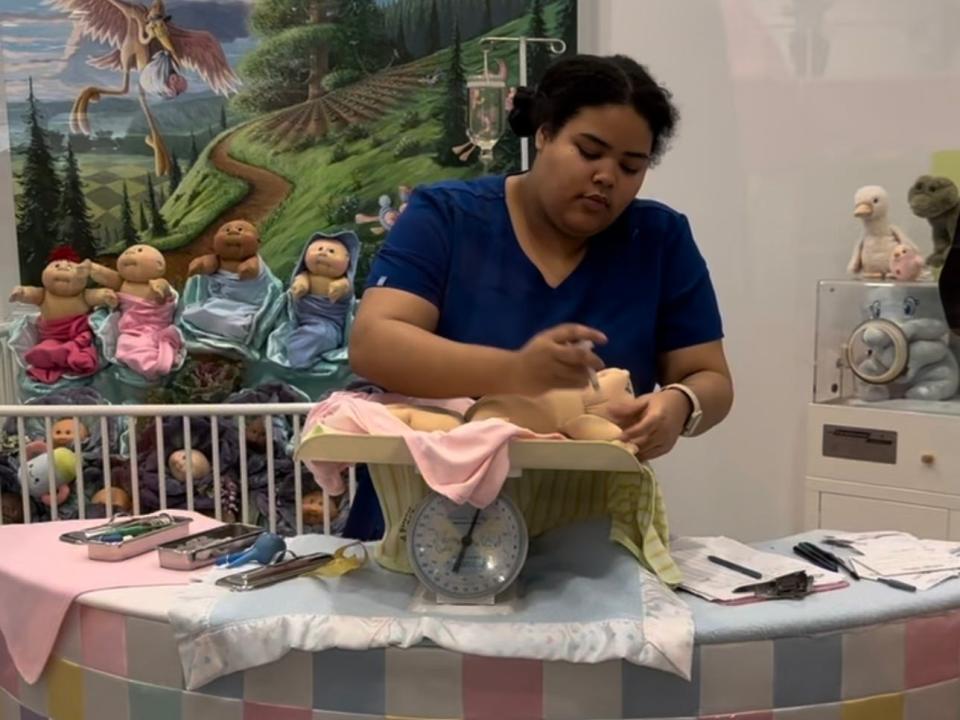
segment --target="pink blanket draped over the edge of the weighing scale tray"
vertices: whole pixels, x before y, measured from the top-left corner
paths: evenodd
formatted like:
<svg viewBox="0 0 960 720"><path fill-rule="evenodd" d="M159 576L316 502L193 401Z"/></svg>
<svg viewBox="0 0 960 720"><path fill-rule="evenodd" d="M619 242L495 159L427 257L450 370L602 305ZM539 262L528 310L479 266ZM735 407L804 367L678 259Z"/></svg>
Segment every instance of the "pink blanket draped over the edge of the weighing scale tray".
<svg viewBox="0 0 960 720"><path fill-rule="evenodd" d="M417 469L433 490L456 503L469 502L484 508L492 503L503 487L510 470L509 443L514 438L551 438L562 435L537 435L505 420L471 422L449 432L419 432L395 418L384 404L406 402L437 405L436 401L412 400L396 396L368 396L357 393L333 393L318 403L307 417L304 433L315 425L345 433L400 436L407 444ZM463 412L470 400L451 400L448 409ZM337 463L308 462L317 483L327 492L344 491L341 473L346 467Z"/></svg>

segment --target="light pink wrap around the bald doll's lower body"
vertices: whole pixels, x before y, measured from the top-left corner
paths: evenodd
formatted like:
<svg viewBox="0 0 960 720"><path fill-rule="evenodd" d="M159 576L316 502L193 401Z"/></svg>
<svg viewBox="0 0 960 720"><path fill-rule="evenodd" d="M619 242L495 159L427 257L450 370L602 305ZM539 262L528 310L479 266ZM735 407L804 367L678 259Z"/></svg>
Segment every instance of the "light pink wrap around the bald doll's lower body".
<svg viewBox="0 0 960 720"><path fill-rule="evenodd" d="M176 298L158 305L129 293L118 297L117 360L146 378L169 375L183 347L183 337L173 324Z"/></svg>

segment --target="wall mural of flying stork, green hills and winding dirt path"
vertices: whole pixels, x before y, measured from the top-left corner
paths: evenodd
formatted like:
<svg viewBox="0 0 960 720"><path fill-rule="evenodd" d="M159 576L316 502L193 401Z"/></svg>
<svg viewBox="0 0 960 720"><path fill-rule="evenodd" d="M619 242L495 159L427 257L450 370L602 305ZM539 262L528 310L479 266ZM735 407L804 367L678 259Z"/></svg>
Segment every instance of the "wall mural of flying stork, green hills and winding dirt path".
<svg viewBox="0 0 960 720"><path fill-rule="evenodd" d="M357 280L410 189L484 172L467 134L483 36L576 49L575 0L0 0L21 277L52 249L112 266L160 249L182 288L249 220L287 279L312 233L353 230ZM517 45L488 72L517 83ZM532 76L550 62L530 47ZM489 171L519 166L504 137Z"/></svg>

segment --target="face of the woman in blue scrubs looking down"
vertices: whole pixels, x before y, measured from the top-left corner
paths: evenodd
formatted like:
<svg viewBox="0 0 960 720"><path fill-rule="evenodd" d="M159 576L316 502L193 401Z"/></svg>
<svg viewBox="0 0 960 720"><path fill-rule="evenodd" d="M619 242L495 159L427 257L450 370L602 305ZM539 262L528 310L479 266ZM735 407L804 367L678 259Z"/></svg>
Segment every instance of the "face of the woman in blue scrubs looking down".
<svg viewBox="0 0 960 720"><path fill-rule="evenodd" d="M537 132L535 173L544 210L571 237L610 225L643 185L653 133L629 105L585 107L558 133Z"/></svg>

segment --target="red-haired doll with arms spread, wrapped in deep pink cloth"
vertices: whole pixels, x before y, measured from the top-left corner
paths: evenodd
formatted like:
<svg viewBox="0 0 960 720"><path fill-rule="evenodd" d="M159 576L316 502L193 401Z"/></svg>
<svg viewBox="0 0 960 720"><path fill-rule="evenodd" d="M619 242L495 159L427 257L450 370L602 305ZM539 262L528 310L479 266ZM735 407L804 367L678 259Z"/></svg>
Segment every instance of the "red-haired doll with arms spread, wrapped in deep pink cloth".
<svg viewBox="0 0 960 720"><path fill-rule="evenodd" d="M43 287L18 285L10 293L10 302L40 306L37 344L24 354L27 374L42 383L52 384L64 375L92 375L100 365L90 311L97 306L117 306L113 290L88 290L89 261L69 247L50 254L43 270Z"/></svg>

